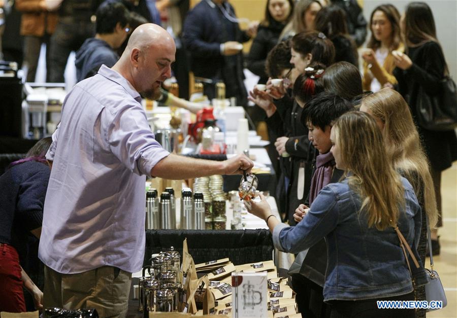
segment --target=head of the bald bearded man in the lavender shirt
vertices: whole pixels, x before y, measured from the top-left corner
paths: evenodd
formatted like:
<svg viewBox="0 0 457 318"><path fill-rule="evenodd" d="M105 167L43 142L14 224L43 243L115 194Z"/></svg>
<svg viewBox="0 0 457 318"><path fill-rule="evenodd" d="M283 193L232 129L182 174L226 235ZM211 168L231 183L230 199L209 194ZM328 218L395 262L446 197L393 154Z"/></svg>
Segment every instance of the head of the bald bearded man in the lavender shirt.
<svg viewBox="0 0 457 318"><path fill-rule="evenodd" d="M160 85L171 77L175 41L162 27L146 23L137 27L113 69L149 99L160 96Z"/></svg>

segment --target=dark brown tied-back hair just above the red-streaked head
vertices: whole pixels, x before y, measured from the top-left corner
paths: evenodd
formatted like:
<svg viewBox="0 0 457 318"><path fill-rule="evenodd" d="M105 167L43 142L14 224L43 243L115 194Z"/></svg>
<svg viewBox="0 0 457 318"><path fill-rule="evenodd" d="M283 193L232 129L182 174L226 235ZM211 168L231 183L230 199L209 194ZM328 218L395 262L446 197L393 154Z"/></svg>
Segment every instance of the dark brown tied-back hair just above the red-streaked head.
<svg viewBox="0 0 457 318"><path fill-rule="evenodd" d="M335 47L332 41L316 31L295 34L292 38L292 48L302 55L311 53L311 63L322 63L329 66L335 59Z"/></svg>

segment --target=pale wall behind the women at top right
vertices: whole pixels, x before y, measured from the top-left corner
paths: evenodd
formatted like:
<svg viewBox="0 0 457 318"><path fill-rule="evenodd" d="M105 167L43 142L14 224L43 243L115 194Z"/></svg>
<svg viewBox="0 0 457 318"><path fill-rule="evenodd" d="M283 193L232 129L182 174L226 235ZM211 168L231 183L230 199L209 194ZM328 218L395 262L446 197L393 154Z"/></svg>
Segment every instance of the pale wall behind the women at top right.
<svg viewBox="0 0 457 318"><path fill-rule="evenodd" d="M370 15L374 8L385 3L395 5L403 14L406 6L411 1L405 0L365 0L364 16L370 23ZM435 18L438 41L440 42L446 58L449 72L457 80L457 1L456 0L429 0L427 3ZM368 32L370 35L370 31ZM368 38L368 37L367 37Z"/></svg>

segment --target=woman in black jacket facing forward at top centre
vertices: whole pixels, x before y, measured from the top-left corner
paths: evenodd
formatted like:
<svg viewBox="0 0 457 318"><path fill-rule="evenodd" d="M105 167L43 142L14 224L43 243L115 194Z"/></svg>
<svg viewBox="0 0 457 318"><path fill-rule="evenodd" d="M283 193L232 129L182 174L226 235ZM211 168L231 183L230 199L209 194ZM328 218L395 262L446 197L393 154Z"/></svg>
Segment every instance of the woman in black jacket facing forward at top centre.
<svg viewBox="0 0 457 318"><path fill-rule="evenodd" d="M290 20L293 9L292 0L268 0L265 18L260 22L257 36L251 45L247 58L247 68L259 76L259 84L267 83L265 62L268 52L278 43L279 34Z"/></svg>

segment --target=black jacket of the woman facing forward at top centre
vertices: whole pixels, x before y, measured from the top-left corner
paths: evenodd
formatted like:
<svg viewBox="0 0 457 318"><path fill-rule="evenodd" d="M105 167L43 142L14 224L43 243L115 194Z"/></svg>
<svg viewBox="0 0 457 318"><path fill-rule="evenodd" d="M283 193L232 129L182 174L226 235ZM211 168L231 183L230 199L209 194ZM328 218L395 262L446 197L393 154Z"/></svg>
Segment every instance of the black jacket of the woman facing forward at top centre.
<svg viewBox="0 0 457 318"><path fill-rule="evenodd" d="M284 28L280 22L272 22L269 26L259 25L257 36L252 41L247 58L247 68L259 76L259 84L267 83L268 76L265 72L265 62L268 53L278 44L279 35Z"/></svg>

